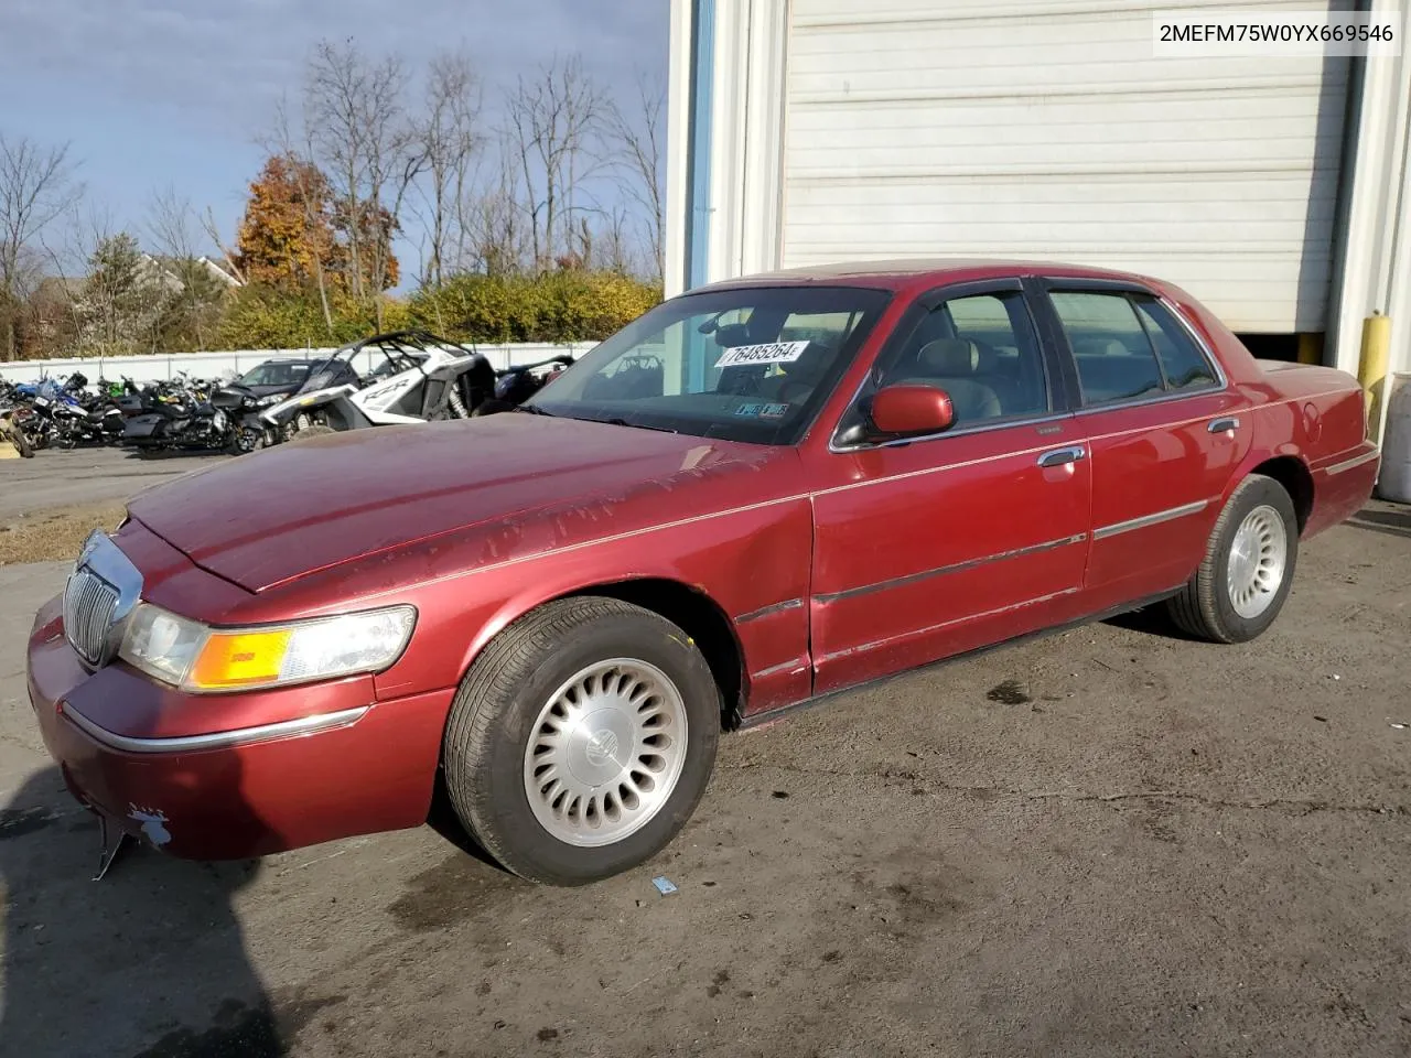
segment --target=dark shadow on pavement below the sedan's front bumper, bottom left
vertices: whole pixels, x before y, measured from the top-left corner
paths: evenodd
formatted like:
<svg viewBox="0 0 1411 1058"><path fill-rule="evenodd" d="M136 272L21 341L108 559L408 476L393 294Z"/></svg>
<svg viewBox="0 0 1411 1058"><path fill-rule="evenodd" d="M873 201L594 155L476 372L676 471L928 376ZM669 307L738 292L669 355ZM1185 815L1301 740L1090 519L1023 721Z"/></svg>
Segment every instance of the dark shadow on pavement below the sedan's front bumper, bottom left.
<svg viewBox="0 0 1411 1058"><path fill-rule="evenodd" d="M0 810L0 1054L279 1058L302 1021L341 1002L275 1013L231 906L255 862L137 846L92 882L97 831L55 767Z"/></svg>

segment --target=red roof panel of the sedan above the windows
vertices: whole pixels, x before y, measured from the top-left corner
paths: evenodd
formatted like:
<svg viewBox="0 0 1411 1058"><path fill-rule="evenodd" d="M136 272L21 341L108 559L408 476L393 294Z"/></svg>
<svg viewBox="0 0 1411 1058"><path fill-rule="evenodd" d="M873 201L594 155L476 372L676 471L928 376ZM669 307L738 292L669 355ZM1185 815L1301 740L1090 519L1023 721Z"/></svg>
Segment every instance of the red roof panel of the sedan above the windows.
<svg viewBox="0 0 1411 1058"><path fill-rule="evenodd" d="M758 286L769 284L847 282L851 285L900 289L933 286L941 282L971 279L1002 279L1013 275L1061 275L1088 279L1126 279L1150 284L1153 279L1133 272L1055 261L1005 261L978 257L907 258L892 261L838 261L832 264L785 268L773 272L722 279L697 291Z"/></svg>

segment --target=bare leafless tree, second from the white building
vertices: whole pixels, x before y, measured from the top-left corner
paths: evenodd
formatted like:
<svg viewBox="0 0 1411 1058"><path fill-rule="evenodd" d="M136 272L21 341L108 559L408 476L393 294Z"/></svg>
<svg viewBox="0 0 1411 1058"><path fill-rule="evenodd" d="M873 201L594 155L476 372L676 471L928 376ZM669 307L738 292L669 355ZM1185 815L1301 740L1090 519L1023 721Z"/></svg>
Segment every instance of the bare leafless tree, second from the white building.
<svg viewBox="0 0 1411 1058"><path fill-rule="evenodd" d="M505 110L526 195L533 267L543 271L580 250L577 199L601 165L591 147L605 100L583 61L570 55L543 66L536 80L519 78Z"/></svg>

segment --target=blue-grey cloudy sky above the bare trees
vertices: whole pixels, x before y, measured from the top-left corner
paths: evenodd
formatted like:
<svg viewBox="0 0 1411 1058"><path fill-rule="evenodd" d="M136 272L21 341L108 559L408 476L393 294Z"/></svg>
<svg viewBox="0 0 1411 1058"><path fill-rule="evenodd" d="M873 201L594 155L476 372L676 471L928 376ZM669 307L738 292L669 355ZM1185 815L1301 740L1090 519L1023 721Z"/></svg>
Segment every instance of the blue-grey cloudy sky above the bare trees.
<svg viewBox="0 0 1411 1058"><path fill-rule="evenodd" d="M0 0L0 128L72 141L93 203L141 229L174 185L233 231L281 93L320 38L415 71L464 45L485 83L580 52L624 100L665 85L669 0Z"/></svg>

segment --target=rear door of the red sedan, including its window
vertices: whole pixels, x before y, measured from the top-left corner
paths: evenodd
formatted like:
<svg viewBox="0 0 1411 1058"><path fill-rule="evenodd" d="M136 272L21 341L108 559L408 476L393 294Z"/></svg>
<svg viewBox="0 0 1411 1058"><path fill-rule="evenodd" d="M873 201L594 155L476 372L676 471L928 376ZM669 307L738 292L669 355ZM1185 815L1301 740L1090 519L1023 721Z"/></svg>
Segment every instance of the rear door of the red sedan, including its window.
<svg viewBox="0 0 1411 1058"><path fill-rule="evenodd" d="M1047 279L1036 312L1092 457L1094 611L1185 583L1250 447L1245 399L1175 306L1133 284Z"/></svg>

